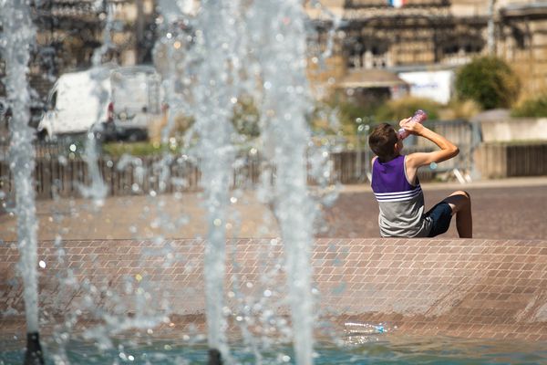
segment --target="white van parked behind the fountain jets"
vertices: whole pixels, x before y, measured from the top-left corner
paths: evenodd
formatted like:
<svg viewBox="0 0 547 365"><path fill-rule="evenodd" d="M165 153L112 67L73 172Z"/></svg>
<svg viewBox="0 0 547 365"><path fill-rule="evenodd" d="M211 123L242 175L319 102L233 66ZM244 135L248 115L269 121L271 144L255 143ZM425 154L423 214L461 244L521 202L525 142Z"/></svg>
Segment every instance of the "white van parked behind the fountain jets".
<svg viewBox="0 0 547 365"><path fill-rule="evenodd" d="M160 113L155 68L92 68L57 79L37 129L40 136L51 138L100 126L108 139L141 140Z"/></svg>

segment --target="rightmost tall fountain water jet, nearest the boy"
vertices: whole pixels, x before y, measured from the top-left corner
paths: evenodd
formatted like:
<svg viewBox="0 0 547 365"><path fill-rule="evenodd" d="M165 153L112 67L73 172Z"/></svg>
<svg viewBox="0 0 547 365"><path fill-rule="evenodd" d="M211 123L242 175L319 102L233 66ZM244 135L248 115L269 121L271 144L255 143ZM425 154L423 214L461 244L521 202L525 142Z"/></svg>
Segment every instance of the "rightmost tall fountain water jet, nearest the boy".
<svg viewBox="0 0 547 365"><path fill-rule="evenodd" d="M275 214L286 256L298 364L311 364L313 298L310 250L315 209L307 192L305 153L309 110L304 11L299 1L255 2L253 44L263 72L264 144L276 166Z"/></svg>

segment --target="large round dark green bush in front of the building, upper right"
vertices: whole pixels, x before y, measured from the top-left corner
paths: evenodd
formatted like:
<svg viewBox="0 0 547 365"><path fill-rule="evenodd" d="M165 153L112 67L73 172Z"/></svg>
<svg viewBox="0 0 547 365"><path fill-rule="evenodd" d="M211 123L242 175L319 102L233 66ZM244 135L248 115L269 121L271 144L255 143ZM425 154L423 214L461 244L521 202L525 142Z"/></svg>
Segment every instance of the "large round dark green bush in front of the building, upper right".
<svg viewBox="0 0 547 365"><path fill-rule="evenodd" d="M518 98L521 82L498 57L478 57L460 68L455 82L459 99L473 99L484 110L510 108Z"/></svg>

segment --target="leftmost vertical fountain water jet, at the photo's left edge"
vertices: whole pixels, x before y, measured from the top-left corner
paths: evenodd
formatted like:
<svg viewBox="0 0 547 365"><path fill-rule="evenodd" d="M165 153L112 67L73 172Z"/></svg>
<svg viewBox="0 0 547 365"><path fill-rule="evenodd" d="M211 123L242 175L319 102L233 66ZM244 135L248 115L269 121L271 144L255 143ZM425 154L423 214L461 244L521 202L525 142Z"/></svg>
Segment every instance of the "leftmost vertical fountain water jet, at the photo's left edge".
<svg viewBox="0 0 547 365"><path fill-rule="evenodd" d="M15 180L15 214L19 242L19 269L25 284L26 331L38 331L38 288L36 255L36 203L32 173L35 167L32 140L34 130L27 125L30 95L26 73L29 48L36 37L26 0L0 2L4 31L2 50L6 62L5 86L11 101L13 117L9 124L11 133L10 168Z"/></svg>

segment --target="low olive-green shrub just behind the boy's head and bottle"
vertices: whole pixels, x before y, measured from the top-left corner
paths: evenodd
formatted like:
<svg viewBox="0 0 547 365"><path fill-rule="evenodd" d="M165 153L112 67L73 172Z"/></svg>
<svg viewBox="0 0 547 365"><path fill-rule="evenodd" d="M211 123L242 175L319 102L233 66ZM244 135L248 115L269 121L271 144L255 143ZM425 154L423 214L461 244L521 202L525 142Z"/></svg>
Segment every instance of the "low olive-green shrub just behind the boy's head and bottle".
<svg viewBox="0 0 547 365"><path fill-rule="evenodd" d="M441 105L432 99L407 97L403 99L393 99L387 101L376 113L378 121L398 122L399 120L412 117L418 109L425 110L428 113L429 120L439 119L439 110Z"/></svg>

